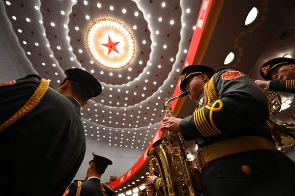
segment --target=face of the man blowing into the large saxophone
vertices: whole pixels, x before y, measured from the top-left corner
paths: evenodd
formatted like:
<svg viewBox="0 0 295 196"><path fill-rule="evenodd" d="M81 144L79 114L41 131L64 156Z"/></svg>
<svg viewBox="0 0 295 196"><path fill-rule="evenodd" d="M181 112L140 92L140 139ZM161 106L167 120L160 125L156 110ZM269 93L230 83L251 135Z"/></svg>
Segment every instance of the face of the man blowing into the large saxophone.
<svg viewBox="0 0 295 196"><path fill-rule="evenodd" d="M188 91L188 96L193 101L198 101L200 95L204 91L204 85L207 83L208 77L206 74L194 76L185 84L185 90Z"/></svg>

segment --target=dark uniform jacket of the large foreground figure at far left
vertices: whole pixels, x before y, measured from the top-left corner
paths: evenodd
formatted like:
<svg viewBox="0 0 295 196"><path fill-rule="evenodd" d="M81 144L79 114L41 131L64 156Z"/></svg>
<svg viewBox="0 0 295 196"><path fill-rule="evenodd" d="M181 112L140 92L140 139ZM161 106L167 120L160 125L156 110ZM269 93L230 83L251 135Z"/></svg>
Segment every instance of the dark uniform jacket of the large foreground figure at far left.
<svg viewBox="0 0 295 196"><path fill-rule="evenodd" d="M28 101L40 81L0 85L0 124ZM61 196L80 167L86 141L79 103L49 87L40 103L0 133L0 196Z"/></svg>

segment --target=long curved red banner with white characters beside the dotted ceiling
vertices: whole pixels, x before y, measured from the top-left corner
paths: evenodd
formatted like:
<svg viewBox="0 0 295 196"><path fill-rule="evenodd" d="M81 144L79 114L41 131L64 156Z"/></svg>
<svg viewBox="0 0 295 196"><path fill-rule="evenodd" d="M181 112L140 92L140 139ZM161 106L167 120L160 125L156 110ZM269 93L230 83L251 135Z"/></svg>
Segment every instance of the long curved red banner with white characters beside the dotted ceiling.
<svg viewBox="0 0 295 196"><path fill-rule="evenodd" d="M202 0L201 9L199 11L198 20L196 23L196 29L193 33L189 50L188 50L183 67L192 64L194 57L196 56L197 50L199 48L200 40L204 32L204 27L207 22L207 17L208 17L211 4L212 4L212 0ZM180 80L178 79L177 86L174 90L173 96L177 96L181 93L181 90L178 87L179 83L180 83ZM176 105L177 105L177 100L171 102L172 110L174 110ZM146 162L148 158L147 157L148 148L151 146L151 144L153 144L154 141L158 140L162 135L162 132L160 131L160 127L161 125L158 127L157 131L155 132L154 138L151 140L144 154L139 158L139 160L134 164L134 166L130 168L126 173L124 173L124 175L119 177L116 181L109 184L109 186L112 189L116 189L118 186L126 182L126 180L131 178L132 175L135 174L143 166L143 164Z"/></svg>

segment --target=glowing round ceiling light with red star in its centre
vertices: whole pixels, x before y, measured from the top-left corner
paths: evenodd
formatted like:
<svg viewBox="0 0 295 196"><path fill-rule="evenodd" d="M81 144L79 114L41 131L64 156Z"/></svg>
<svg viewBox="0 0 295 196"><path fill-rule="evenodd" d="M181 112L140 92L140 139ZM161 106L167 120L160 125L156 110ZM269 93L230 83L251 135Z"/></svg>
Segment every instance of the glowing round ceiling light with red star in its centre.
<svg viewBox="0 0 295 196"><path fill-rule="evenodd" d="M86 43L95 61L111 69L127 66L135 55L135 42L130 30L112 18L94 21L87 30Z"/></svg>

